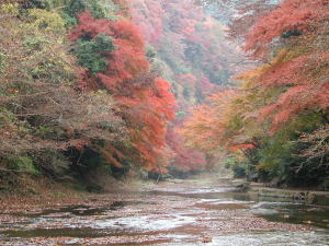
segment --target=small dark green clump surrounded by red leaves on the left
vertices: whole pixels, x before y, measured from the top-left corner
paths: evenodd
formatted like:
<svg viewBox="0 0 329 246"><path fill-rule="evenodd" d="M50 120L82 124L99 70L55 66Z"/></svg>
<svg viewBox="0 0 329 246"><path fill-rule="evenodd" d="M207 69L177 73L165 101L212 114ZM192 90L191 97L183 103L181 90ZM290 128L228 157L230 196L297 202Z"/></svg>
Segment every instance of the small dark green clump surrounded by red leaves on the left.
<svg viewBox="0 0 329 246"><path fill-rule="evenodd" d="M98 73L104 72L109 65L103 58L103 52L114 49L113 39L106 34L99 34L91 40L79 39L73 51L81 67L92 73Z"/></svg>

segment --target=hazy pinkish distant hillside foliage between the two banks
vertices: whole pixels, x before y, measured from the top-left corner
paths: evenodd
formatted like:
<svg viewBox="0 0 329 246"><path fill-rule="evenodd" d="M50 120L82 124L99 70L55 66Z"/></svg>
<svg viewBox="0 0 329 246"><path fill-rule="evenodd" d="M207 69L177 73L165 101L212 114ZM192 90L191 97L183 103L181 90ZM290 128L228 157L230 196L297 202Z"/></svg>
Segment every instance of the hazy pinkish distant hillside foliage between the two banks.
<svg viewBox="0 0 329 246"><path fill-rule="evenodd" d="M231 73L227 59L237 52L224 42L224 26L195 1L136 0L131 5L132 20L151 46L151 66L162 68L178 102L177 120L167 136L175 154L171 168L203 171L204 154L186 147L177 132L193 107L226 86Z"/></svg>

